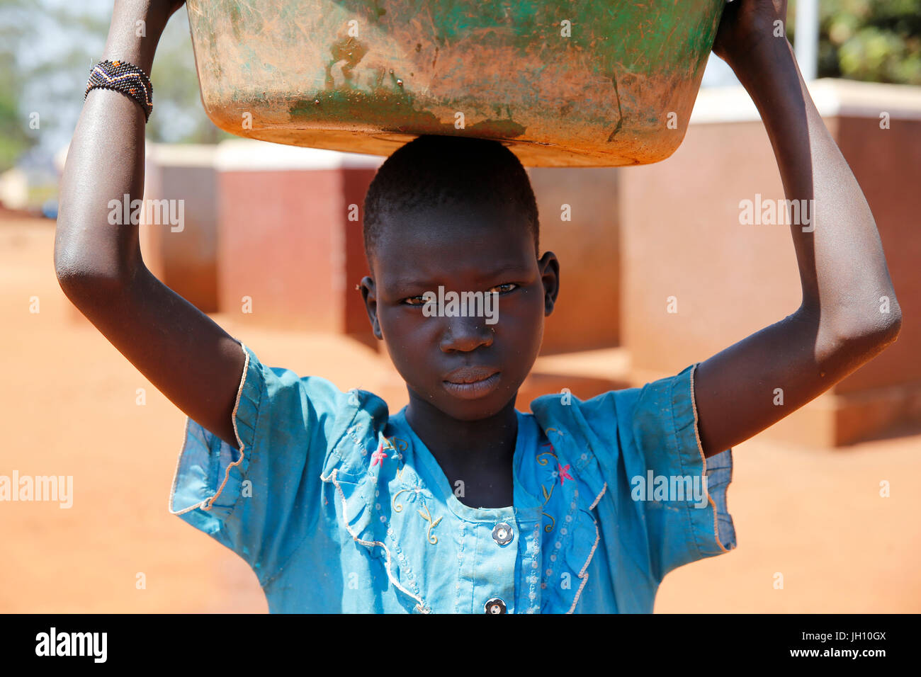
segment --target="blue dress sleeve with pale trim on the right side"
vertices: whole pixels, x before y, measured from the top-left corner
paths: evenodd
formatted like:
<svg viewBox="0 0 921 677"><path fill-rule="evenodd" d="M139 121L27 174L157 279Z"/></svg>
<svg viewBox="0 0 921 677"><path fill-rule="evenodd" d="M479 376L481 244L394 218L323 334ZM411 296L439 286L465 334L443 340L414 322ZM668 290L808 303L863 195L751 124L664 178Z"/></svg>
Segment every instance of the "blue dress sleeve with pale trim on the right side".
<svg viewBox="0 0 921 677"><path fill-rule="evenodd" d="M704 456L694 402L696 367L580 404L596 438L606 441L595 450L619 503L618 517L632 522L619 527L646 541L635 550L646 550L657 581L736 544L726 500L732 450Z"/></svg>

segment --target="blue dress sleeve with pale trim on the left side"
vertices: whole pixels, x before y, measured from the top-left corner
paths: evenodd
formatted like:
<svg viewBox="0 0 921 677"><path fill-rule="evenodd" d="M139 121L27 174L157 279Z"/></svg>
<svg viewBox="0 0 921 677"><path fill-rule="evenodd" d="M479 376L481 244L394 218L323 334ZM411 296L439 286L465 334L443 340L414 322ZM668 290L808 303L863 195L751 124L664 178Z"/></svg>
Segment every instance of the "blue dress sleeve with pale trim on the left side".
<svg viewBox="0 0 921 677"><path fill-rule="evenodd" d="M169 511L239 554L265 586L317 519L318 478L344 433L349 395L327 379L265 367L240 348L239 450L187 419Z"/></svg>

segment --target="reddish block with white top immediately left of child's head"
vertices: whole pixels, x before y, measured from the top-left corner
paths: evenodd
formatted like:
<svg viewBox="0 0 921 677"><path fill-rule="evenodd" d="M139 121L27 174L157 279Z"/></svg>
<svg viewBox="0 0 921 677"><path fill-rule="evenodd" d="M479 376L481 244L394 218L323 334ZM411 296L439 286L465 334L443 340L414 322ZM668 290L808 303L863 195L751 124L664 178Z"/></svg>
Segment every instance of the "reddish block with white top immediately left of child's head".
<svg viewBox="0 0 921 677"><path fill-rule="evenodd" d="M384 159L222 142L220 309L245 321L376 343L355 287L367 274L362 204Z"/></svg>

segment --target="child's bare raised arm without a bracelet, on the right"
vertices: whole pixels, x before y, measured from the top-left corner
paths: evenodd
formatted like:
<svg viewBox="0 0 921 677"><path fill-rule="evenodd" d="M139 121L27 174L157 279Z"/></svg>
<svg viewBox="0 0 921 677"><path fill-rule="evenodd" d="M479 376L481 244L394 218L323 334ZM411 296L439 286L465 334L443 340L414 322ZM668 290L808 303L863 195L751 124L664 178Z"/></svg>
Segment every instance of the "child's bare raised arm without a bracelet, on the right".
<svg viewBox="0 0 921 677"><path fill-rule="evenodd" d="M791 226L802 305L697 368L706 456L827 391L895 341L902 325L867 200L812 103L783 23L777 30L786 16L786 0L736 0L726 7L714 52L761 113L787 200L815 201L810 225ZM880 311L882 297L888 313ZM783 406L775 406L776 388Z"/></svg>

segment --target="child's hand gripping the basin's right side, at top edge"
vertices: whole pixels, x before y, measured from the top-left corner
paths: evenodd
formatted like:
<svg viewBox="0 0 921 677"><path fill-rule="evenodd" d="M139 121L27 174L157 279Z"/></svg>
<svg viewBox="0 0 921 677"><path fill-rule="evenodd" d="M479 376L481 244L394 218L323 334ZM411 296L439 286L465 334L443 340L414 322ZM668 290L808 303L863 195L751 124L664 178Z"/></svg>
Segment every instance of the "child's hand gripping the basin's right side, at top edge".
<svg viewBox="0 0 921 677"><path fill-rule="evenodd" d="M771 41L786 43L786 22L787 0L729 0L719 21L713 53L735 68Z"/></svg>

